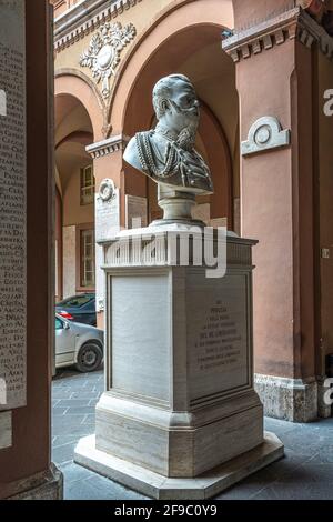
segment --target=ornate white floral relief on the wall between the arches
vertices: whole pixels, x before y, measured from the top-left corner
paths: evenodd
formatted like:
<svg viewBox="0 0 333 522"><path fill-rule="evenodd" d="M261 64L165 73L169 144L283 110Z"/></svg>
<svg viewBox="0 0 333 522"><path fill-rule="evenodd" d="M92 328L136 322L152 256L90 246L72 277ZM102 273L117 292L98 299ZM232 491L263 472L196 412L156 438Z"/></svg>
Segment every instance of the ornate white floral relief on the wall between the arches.
<svg viewBox="0 0 333 522"><path fill-rule="evenodd" d="M93 34L89 48L80 58L80 66L92 70L97 83L102 81L102 96L110 96L110 78L115 76L121 51L134 39L137 29L132 23L124 28L120 22L105 23Z"/></svg>

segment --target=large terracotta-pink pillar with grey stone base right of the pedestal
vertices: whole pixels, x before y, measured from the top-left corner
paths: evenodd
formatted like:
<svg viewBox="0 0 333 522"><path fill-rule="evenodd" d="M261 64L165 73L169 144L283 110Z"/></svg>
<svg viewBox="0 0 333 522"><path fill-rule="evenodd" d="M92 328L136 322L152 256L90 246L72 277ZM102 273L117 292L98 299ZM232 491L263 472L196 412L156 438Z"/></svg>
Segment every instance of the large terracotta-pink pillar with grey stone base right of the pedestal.
<svg viewBox="0 0 333 522"><path fill-rule="evenodd" d="M245 6L234 3L241 27ZM272 14L265 2L258 2L248 13L248 29L236 28L223 49L236 63L241 103L242 234L259 240L256 389L268 415L306 422L317 416L315 375L323 372L317 353L313 49L319 43L329 53L330 39L300 7L284 3Z"/></svg>

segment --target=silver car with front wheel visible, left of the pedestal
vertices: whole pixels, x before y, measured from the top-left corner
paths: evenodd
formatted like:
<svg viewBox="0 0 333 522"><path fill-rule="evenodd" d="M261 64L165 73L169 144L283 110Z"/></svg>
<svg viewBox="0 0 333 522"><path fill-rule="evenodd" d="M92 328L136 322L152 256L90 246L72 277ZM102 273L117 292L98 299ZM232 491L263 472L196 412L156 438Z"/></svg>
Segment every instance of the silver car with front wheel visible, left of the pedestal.
<svg viewBox="0 0 333 522"><path fill-rule="evenodd" d="M80 372L98 370L103 360L104 332L56 314L56 368L75 364Z"/></svg>

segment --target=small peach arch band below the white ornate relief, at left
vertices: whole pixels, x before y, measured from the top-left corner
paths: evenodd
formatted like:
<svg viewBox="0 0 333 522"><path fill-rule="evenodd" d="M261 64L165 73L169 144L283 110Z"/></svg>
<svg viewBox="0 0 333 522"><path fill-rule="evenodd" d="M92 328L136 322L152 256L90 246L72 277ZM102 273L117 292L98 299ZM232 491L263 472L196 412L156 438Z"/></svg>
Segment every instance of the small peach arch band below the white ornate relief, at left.
<svg viewBox="0 0 333 522"><path fill-rule="evenodd" d="M60 69L56 72L56 98L71 96L87 110L92 129L93 141L103 140L105 104L93 82L85 74L71 69Z"/></svg>

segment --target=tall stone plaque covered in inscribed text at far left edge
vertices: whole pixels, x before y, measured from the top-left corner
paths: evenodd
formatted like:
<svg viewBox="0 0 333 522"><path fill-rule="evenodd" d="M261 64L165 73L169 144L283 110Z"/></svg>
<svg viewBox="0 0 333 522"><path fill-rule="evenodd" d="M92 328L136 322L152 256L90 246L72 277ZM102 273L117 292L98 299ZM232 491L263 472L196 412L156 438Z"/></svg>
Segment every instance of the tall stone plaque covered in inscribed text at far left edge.
<svg viewBox="0 0 333 522"><path fill-rule="evenodd" d="M0 0L0 410L26 405L24 2Z"/></svg>

